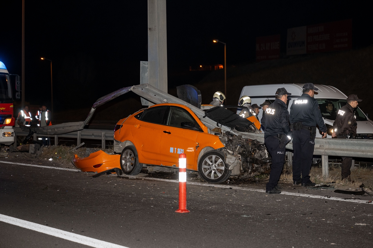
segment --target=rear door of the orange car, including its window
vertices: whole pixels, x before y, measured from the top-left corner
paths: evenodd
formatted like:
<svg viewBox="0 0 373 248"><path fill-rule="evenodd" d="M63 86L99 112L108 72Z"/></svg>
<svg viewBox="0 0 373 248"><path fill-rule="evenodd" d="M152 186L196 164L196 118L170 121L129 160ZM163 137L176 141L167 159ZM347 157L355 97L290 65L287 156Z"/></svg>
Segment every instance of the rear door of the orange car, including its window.
<svg viewBox="0 0 373 248"><path fill-rule="evenodd" d="M164 113L167 106L155 106L144 110L139 120L135 121L132 128L132 136L137 152L142 157L154 160L158 164L160 156L161 134L164 131Z"/></svg>

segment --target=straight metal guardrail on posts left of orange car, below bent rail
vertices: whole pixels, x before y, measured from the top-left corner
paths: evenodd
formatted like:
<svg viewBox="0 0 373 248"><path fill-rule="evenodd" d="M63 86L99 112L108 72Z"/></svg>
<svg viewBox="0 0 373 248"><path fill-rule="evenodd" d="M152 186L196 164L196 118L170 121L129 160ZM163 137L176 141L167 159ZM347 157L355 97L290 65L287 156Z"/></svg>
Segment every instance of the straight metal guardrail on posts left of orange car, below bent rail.
<svg viewBox="0 0 373 248"><path fill-rule="evenodd" d="M17 136L27 136L28 132L23 132L21 128L14 128L15 139ZM114 141L114 130L98 130L98 129L83 129L81 131L75 131L71 133L64 133L59 135L46 135L34 133L34 140L38 137L50 137L54 138L54 145L58 144L58 138L75 138L77 139L76 145L81 144L81 139L101 139L101 148L105 148L105 142L107 140ZM14 142L16 148L16 142Z"/></svg>

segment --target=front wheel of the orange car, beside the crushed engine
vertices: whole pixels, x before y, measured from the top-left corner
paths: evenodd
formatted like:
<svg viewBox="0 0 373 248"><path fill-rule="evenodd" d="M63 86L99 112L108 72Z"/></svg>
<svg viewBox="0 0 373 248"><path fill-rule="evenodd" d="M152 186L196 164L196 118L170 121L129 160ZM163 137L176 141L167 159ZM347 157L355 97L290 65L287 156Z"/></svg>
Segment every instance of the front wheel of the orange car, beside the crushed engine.
<svg viewBox="0 0 373 248"><path fill-rule="evenodd" d="M225 164L225 156L218 151L208 151L198 162L198 173L208 183L222 183L232 171Z"/></svg>

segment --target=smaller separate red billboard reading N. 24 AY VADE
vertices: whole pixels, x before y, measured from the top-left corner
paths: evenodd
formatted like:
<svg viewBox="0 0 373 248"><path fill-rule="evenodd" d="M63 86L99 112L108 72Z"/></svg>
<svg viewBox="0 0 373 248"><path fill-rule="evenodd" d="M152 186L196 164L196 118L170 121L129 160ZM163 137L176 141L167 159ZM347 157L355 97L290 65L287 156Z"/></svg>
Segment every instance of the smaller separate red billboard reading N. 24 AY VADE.
<svg viewBox="0 0 373 248"><path fill-rule="evenodd" d="M280 58L280 35L256 38L256 61Z"/></svg>

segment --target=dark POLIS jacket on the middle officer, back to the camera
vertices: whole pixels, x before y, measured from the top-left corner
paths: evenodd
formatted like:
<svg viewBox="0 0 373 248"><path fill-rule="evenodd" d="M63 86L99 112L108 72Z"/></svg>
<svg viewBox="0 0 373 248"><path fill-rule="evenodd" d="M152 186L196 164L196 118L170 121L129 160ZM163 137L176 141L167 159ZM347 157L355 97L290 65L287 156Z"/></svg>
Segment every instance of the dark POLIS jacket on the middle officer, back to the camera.
<svg viewBox="0 0 373 248"><path fill-rule="evenodd" d="M319 103L308 94L302 94L293 101L290 107L290 123L302 122L303 126L319 126L321 132L326 132L326 126L320 112Z"/></svg>

